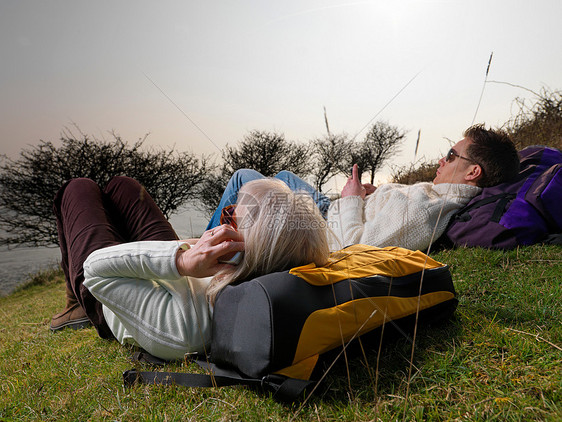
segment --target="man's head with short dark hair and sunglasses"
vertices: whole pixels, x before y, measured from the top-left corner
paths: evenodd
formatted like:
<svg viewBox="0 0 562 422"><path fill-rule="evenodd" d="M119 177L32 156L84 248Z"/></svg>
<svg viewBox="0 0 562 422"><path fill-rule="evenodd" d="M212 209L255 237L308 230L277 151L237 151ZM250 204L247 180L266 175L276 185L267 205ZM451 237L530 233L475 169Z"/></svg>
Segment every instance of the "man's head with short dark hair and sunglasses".
<svg viewBox="0 0 562 422"><path fill-rule="evenodd" d="M506 182L518 173L519 155L509 136L500 130L474 125L439 160L433 183L487 187Z"/></svg>

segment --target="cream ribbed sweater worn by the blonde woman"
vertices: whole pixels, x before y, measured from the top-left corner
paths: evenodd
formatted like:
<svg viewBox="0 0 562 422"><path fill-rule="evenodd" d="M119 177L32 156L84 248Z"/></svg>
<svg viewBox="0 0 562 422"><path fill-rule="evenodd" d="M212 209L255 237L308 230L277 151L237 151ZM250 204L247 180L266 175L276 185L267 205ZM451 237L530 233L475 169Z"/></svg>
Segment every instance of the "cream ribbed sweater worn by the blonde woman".
<svg viewBox="0 0 562 422"><path fill-rule="evenodd" d="M84 286L103 304L117 339L132 337L164 359L201 352L210 341L210 278L179 275L180 247L176 241L125 243L97 250L84 263Z"/></svg>

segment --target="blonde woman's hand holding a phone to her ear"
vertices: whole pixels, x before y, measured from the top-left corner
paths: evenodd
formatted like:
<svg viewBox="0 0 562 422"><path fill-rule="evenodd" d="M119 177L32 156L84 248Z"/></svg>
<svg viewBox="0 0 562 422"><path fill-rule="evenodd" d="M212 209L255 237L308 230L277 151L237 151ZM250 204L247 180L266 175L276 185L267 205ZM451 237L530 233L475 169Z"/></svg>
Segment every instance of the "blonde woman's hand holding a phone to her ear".
<svg viewBox="0 0 562 422"><path fill-rule="evenodd" d="M232 265L219 263L220 257L243 250L242 235L224 224L207 230L190 249L180 249L176 267L183 276L209 277L224 268L232 268Z"/></svg>

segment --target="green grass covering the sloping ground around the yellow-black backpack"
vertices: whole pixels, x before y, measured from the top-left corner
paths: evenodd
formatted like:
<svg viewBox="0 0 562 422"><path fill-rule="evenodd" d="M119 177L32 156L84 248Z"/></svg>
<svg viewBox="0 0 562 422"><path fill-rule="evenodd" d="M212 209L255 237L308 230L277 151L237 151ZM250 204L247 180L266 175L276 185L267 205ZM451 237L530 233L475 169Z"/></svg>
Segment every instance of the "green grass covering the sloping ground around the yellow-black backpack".
<svg viewBox="0 0 562 422"><path fill-rule="evenodd" d="M0 420L561 420L560 252L434 254L450 265L460 304L449 323L418 331L410 381L402 338L382 350L376 391L367 352L335 365L302 409L245 388L124 389L131 349L92 328L50 333L64 284L45 277L0 299Z"/></svg>

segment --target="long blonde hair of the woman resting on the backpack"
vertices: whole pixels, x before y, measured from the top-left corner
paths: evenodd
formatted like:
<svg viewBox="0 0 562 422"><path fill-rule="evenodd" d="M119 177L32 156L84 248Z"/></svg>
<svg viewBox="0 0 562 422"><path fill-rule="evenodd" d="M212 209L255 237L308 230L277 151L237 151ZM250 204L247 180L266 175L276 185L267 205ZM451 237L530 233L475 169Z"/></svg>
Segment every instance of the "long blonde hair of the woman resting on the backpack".
<svg viewBox="0 0 562 422"><path fill-rule="evenodd" d="M211 304L228 284L309 263L320 266L328 259L326 221L314 201L278 179L242 186L236 218L245 242L244 259L234 271L213 278L207 288Z"/></svg>

